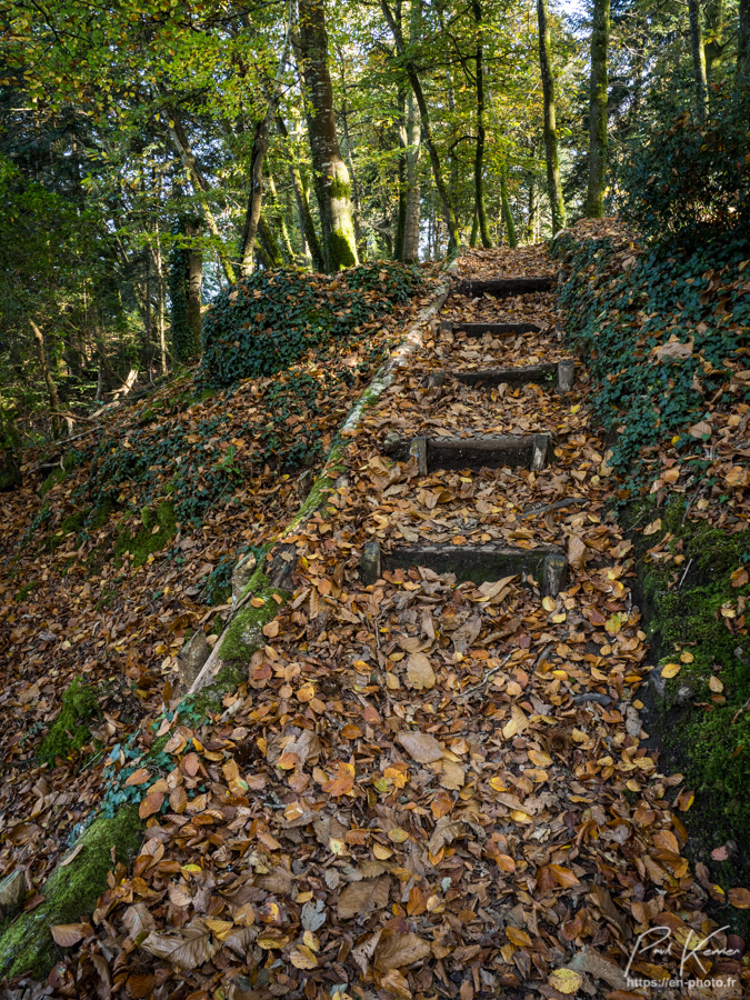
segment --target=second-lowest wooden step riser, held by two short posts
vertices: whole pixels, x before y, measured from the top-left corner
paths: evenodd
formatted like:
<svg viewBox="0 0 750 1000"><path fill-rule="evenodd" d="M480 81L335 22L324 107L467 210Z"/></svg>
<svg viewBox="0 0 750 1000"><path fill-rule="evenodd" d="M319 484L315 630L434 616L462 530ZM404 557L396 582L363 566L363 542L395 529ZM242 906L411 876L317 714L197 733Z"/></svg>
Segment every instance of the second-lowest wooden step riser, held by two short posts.
<svg viewBox="0 0 750 1000"><path fill-rule="evenodd" d="M482 434L476 438L400 438L389 434L383 451L400 461L417 459L420 476L433 469L499 469L524 466L532 472L547 464L549 434Z"/></svg>

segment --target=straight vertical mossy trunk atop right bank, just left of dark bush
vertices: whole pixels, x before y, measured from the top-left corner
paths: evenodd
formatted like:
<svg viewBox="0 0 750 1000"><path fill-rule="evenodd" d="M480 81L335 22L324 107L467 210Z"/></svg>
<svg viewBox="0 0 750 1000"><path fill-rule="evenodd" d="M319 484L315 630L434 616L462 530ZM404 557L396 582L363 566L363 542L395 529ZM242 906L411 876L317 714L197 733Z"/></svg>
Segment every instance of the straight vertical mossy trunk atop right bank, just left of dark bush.
<svg viewBox="0 0 750 1000"><path fill-rule="evenodd" d="M607 183L607 52L609 49L610 0L593 0L591 26L591 81L589 88L589 190L586 214L604 214Z"/></svg>

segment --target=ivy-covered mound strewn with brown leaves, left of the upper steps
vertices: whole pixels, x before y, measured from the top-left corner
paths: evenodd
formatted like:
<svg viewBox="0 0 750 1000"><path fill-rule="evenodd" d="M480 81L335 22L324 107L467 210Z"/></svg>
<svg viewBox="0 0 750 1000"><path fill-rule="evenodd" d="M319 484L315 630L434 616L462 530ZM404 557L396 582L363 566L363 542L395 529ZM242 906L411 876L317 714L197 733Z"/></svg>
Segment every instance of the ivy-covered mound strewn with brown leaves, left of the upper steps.
<svg viewBox="0 0 750 1000"><path fill-rule="evenodd" d="M221 292L206 317L201 377L223 388L276 374L330 340L357 342L421 287L419 269L392 261L333 280L294 270L256 273Z"/></svg>

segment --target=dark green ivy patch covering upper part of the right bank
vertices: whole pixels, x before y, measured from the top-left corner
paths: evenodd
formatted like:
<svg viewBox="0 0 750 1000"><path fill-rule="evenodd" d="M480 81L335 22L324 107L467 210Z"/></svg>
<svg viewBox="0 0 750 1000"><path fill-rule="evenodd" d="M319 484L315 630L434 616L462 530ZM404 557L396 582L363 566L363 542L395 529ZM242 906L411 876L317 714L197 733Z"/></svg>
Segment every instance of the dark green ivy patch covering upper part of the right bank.
<svg viewBox="0 0 750 1000"><path fill-rule="evenodd" d="M681 460L701 471L702 442L686 430L706 416L703 393L709 398L726 382L726 359L743 349L750 299L742 261L750 239L737 233L720 248L672 253L662 247L639 253L628 242L579 241L566 233L553 253L567 274L560 296L567 334L584 356L596 389L589 403L613 439L611 464L629 474L634 492L644 481L642 449L677 436ZM693 340L689 357L656 354L672 336ZM750 399L740 390L738 402L743 396Z"/></svg>

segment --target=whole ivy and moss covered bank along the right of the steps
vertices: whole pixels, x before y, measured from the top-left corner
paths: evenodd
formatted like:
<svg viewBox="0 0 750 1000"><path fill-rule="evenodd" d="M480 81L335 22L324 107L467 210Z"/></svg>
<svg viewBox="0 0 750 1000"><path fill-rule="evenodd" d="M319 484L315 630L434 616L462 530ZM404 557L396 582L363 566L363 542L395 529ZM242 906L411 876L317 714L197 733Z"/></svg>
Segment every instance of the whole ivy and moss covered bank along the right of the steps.
<svg viewBox="0 0 750 1000"><path fill-rule="evenodd" d="M750 250L643 248L611 220L553 247L637 553L653 663L643 726L694 793L679 816L721 906L722 887L750 880ZM724 918L747 929L743 911Z"/></svg>

